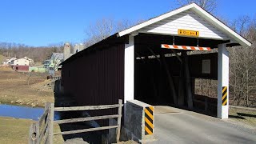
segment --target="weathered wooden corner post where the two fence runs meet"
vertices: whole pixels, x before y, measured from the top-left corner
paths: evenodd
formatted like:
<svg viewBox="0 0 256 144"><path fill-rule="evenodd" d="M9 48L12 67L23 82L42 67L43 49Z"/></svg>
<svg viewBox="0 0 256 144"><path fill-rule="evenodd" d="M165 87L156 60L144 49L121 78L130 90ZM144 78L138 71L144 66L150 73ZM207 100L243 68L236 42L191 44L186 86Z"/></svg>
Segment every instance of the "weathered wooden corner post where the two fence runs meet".
<svg viewBox="0 0 256 144"><path fill-rule="evenodd" d="M53 143L53 138L54 138L54 103L50 103L49 107L49 136L48 136L48 142L50 144Z"/></svg>

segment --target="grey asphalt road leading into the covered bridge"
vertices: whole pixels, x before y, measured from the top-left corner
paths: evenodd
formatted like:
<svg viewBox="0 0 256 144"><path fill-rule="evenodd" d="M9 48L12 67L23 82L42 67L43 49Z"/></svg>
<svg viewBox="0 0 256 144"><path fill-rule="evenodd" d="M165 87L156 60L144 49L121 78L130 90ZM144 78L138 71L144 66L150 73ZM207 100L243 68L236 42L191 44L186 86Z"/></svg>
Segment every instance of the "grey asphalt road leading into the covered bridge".
<svg viewBox="0 0 256 144"><path fill-rule="evenodd" d="M150 143L256 143L256 129L229 120L170 107L156 106Z"/></svg>

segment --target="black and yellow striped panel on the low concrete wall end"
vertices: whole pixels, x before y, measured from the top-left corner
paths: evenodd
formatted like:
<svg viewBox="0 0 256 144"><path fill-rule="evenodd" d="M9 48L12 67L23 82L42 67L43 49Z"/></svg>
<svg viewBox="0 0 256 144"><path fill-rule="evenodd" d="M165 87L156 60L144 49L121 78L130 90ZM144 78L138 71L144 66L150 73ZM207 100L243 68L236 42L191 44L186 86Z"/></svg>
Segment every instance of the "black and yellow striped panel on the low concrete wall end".
<svg viewBox="0 0 256 144"><path fill-rule="evenodd" d="M145 135L154 132L154 106L145 107Z"/></svg>

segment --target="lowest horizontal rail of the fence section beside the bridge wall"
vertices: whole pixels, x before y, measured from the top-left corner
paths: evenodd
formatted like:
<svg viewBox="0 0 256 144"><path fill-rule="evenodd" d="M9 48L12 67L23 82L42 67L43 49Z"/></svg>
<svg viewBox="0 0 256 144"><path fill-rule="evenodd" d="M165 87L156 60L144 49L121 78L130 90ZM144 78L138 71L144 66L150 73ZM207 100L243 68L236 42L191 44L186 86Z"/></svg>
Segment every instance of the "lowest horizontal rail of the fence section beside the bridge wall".
<svg viewBox="0 0 256 144"><path fill-rule="evenodd" d="M77 133L84 133L89 131L96 131L96 130L107 130L107 129L114 129L118 126L102 126L102 127L96 127L96 128L90 128L90 129L83 129L83 130L71 130L71 131L64 131L60 133L54 133L54 135L64 135L64 134L77 134Z"/></svg>

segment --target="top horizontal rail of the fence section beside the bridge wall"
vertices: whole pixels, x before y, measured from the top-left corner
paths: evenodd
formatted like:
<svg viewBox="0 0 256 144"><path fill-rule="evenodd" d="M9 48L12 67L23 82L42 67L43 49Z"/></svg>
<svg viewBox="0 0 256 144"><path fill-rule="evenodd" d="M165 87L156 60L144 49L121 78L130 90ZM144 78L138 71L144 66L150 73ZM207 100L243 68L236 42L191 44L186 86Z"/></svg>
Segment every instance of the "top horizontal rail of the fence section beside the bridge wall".
<svg viewBox="0 0 256 144"><path fill-rule="evenodd" d="M55 107L54 111L71 111L71 110L102 110L102 109L113 109L119 107L116 105L102 105L102 106L72 106L72 107Z"/></svg>

